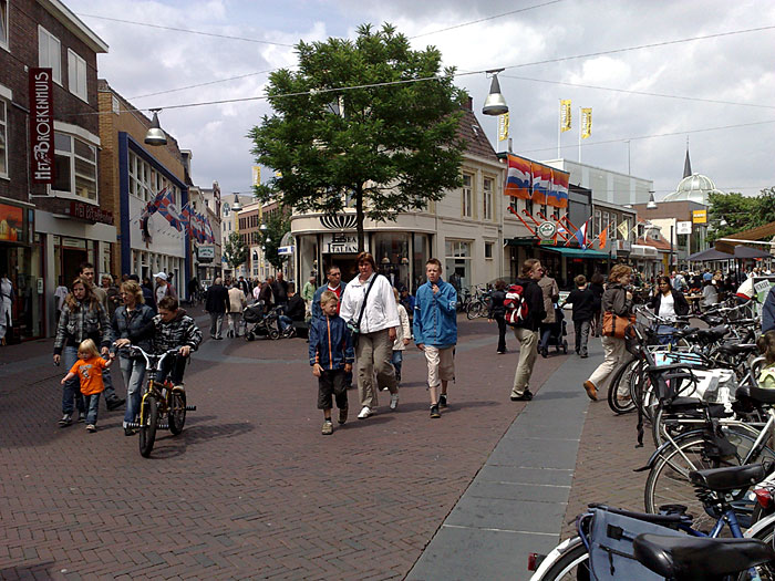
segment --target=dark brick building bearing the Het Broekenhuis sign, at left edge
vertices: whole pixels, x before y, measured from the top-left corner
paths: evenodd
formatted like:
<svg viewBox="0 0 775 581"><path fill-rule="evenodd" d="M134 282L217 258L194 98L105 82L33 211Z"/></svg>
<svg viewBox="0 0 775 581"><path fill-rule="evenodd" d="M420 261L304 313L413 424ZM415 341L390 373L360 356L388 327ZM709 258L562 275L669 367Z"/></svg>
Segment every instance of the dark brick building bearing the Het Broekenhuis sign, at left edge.
<svg viewBox="0 0 775 581"><path fill-rule="evenodd" d="M96 55L107 44L59 0L0 0L0 276L17 295L12 342L51 332L60 277L69 283L83 260L106 271L116 229L97 183ZM39 160L46 172L33 170Z"/></svg>

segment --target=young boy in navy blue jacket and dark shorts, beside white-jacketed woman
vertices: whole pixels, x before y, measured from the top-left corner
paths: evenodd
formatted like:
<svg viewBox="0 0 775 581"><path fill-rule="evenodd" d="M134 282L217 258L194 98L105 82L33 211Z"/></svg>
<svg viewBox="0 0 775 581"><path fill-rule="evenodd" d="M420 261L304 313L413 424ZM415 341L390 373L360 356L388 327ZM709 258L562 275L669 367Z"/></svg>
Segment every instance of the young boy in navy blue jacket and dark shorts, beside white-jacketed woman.
<svg viewBox="0 0 775 581"><path fill-rule="evenodd" d="M337 293L324 291L320 297L323 317L310 322L310 365L318 377L318 409L323 411L324 436L333 434L331 423L332 396L339 408L339 424L348 421L348 388L345 373L352 371L355 349L344 319L337 314Z"/></svg>

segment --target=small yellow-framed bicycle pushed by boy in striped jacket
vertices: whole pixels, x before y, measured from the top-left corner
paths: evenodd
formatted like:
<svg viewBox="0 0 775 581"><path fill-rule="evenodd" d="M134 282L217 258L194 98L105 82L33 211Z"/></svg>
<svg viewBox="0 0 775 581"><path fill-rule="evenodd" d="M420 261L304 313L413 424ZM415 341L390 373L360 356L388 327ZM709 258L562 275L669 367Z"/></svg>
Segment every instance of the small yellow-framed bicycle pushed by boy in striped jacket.
<svg viewBox="0 0 775 581"><path fill-rule="evenodd" d="M168 377L163 383L156 382L156 372L162 367L162 363L168 355L177 354L177 349L161 355L146 353L135 345L130 350L133 355L143 355L145 359L148 381L140 403L140 419L127 425L140 429L140 454L147 458L154 449L156 429L169 429L177 436L186 423L186 412L196 412L196 406L186 405L185 390L174 386Z"/></svg>

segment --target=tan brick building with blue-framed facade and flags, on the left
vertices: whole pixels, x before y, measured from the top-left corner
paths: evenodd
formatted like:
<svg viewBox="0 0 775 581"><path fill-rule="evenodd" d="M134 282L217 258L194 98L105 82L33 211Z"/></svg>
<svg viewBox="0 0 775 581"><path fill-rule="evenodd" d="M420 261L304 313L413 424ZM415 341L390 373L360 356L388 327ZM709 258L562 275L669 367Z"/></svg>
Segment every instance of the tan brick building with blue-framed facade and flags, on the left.
<svg viewBox="0 0 775 581"><path fill-rule="evenodd" d="M151 120L116 93L105 80L99 81L100 187L121 214L118 249L111 268L116 273L142 278L164 271L172 277L180 298L187 297L192 278L192 251L185 228L177 230L159 212L148 218L143 230L141 214L163 188L172 193L182 209L189 199L186 159L177 142L167 134L167 145L148 146L144 138Z"/></svg>

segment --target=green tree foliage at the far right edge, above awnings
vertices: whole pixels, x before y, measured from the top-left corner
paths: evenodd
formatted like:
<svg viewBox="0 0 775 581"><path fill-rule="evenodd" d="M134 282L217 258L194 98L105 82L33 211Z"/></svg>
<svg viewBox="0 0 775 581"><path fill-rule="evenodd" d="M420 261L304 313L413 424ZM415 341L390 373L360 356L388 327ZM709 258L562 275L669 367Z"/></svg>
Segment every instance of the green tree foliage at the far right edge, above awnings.
<svg viewBox="0 0 775 581"><path fill-rule="evenodd" d="M713 224L707 235L710 241L775 221L775 188L765 188L756 197L735 191L711 194L709 203ZM726 226L721 225L722 219Z"/></svg>

